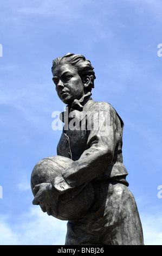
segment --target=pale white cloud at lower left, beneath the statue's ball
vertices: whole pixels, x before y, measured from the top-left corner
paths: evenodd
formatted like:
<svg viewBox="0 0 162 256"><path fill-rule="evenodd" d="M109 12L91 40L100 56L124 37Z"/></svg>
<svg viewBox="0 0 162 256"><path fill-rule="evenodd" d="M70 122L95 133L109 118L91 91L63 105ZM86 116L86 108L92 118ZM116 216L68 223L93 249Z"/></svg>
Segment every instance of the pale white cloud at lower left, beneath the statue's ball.
<svg viewBox="0 0 162 256"><path fill-rule="evenodd" d="M0 245L64 245L66 221L48 216L34 206L14 218L1 215L0 230Z"/></svg>

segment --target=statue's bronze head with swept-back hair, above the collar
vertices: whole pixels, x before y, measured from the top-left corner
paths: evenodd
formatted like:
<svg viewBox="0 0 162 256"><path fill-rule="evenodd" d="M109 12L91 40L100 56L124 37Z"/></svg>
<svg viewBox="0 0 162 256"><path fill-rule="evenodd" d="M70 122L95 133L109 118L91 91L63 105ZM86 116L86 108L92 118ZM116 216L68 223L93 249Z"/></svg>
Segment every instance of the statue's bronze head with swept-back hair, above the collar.
<svg viewBox="0 0 162 256"><path fill-rule="evenodd" d="M67 53L53 60L51 71L56 91L64 103L72 103L94 88L95 72L81 54Z"/></svg>

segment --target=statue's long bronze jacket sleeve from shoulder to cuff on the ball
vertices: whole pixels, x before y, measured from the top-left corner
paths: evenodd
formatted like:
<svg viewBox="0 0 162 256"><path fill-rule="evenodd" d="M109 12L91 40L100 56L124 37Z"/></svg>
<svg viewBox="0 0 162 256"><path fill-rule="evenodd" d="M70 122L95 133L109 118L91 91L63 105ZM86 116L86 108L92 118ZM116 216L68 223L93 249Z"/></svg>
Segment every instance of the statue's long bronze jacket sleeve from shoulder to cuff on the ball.
<svg viewBox="0 0 162 256"><path fill-rule="evenodd" d="M87 115L87 123L90 124L88 149L79 160L64 170L62 176L53 181L54 187L60 193L96 178L113 160L116 145L115 111L107 102L99 104L97 110L95 109L92 114Z"/></svg>

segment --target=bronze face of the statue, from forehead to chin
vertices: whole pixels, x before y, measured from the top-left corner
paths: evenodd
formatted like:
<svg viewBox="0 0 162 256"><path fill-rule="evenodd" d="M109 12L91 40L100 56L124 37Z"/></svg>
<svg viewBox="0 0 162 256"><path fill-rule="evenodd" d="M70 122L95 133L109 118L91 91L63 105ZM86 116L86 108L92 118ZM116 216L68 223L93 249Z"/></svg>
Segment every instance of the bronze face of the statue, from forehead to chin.
<svg viewBox="0 0 162 256"><path fill-rule="evenodd" d="M53 81L59 98L70 105L75 99L80 100L84 93L84 86L77 68L71 64L56 66L53 71Z"/></svg>

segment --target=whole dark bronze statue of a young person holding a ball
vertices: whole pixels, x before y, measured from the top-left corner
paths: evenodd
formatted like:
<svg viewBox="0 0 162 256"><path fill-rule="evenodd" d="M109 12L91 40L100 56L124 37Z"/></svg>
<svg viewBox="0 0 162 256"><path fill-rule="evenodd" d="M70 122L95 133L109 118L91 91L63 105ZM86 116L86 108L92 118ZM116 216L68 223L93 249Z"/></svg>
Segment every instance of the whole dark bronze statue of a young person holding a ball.
<svg viewBox="0 0 162 256"><path fill-rule="evenodd" d="M96 77L84 56L67 53L51 70L67 108L57 156L31 174L33 204L68 220L65 245L144 245L122 160L122 119L109 103L92 99Z"/></svg>

